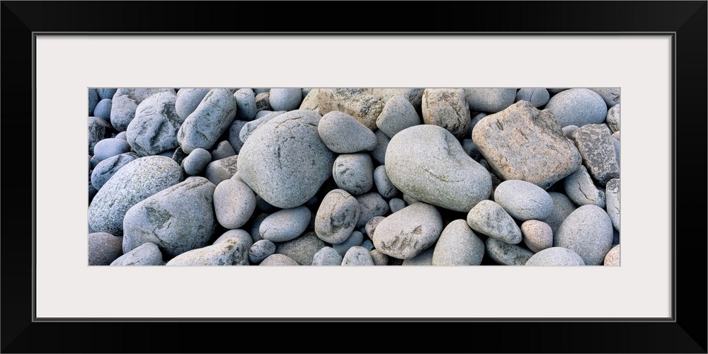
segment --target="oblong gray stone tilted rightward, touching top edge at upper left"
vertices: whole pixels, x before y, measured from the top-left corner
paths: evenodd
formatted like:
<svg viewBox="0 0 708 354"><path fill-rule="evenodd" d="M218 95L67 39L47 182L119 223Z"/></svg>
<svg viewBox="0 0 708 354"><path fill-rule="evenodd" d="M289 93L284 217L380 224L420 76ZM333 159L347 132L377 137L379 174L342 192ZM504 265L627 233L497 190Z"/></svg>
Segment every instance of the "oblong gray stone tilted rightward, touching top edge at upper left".
<svg viewBox="0 0 708 354"><path fill-rule="evenodd" d="M189 154L201 147L211 149L236 117L236 98L228 89L212 89L177 132L180 147Z"/></svg>

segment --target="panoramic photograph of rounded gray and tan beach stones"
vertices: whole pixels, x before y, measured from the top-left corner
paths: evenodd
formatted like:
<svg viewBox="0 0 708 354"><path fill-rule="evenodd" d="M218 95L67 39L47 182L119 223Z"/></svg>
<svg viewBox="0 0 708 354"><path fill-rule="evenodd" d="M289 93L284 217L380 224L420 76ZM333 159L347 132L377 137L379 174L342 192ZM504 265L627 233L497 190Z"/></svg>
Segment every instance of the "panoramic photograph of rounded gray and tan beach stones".
<svg viewBox="0 0 708 354"><path fill-rule="evenodd" d="M88 91L88 265L620 265L619 88Z"/></svg>

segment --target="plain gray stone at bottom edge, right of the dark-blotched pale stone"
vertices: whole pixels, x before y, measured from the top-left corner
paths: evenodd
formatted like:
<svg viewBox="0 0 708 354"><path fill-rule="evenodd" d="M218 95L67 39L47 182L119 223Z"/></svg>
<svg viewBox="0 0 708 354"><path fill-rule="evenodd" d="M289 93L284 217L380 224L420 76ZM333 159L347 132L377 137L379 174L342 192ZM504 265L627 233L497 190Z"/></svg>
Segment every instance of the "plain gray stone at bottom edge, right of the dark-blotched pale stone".
<svg viewBox="0 0 708 354"><path fill-rule="evenodd" d="M467 221L457 219L442 230L433 251L433 265L480 265L484 258L484 242L469 228Z"/></svg>

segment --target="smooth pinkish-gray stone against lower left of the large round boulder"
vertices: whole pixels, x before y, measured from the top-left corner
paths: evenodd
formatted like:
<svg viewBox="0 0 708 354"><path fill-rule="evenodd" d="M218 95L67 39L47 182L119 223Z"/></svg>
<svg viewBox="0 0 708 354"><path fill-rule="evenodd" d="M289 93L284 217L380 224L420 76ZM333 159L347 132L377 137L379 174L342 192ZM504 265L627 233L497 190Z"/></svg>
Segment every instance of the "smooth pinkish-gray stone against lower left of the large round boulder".
<svg viewBox="0 0 708 354"><path fill-rule="evenodd" d="M227 179L214 190L214 210L222 227L239 229L256 211L256 194L246 183Z"/></svg>

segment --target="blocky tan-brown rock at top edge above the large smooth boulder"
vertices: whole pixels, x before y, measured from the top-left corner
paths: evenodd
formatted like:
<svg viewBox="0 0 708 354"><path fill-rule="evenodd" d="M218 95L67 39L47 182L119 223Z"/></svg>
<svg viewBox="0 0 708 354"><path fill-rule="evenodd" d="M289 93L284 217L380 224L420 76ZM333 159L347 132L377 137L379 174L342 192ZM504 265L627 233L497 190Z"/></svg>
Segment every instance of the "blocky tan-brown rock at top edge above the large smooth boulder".
<svg viewBox="0 0 708 354"><path fill-rule="evenodd" d="M426 89L422 110L426 124L443 127L457 139L467 135L471 117L463 89Z"/></svg>

